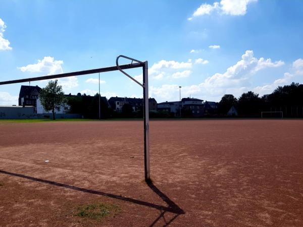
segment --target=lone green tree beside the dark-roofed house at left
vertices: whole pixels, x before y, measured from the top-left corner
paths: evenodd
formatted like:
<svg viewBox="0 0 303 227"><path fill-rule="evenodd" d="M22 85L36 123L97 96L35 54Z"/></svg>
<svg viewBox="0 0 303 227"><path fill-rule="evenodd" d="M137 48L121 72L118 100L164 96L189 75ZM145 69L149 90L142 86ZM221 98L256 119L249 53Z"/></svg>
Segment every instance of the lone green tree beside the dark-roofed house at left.
<svg viewBox="0 0 303 227"><path fill-rule="evenodd" d="M58 80L49 81L45 88L41 89L39 98L46 111L52 110L53 120L55 120L55 110L59 111L66 102L62 86L58 85Z"/></svg>

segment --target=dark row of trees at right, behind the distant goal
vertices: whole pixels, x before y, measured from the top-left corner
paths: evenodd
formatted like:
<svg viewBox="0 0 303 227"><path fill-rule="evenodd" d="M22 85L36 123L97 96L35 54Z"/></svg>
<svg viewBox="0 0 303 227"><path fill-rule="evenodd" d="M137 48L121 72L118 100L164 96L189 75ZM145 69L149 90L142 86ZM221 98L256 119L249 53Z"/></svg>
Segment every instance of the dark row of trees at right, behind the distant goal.
<svg viewBox="0 0 303 227"><path fill-rule="evenodd" d="M232 106L243 117L260 117L261 111L283 111L284 117L303 117L303 84L279 86L262 97L252 91L243 93L238 99L225 94L219 102L219 114L226 115Z"/></svg>

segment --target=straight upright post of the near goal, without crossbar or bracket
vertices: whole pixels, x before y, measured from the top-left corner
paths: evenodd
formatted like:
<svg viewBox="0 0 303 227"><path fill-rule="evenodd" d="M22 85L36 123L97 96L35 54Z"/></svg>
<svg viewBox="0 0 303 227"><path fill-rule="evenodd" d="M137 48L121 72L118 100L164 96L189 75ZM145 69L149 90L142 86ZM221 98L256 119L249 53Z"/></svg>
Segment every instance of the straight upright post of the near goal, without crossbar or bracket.
<svg viewBox="0 0 303 227"><path fill-rule="evenodd" d="M149 106L148 106L148 63L143 66L143 121L144 121L144 176L145 181L150 180L149 169Z"/></svg>

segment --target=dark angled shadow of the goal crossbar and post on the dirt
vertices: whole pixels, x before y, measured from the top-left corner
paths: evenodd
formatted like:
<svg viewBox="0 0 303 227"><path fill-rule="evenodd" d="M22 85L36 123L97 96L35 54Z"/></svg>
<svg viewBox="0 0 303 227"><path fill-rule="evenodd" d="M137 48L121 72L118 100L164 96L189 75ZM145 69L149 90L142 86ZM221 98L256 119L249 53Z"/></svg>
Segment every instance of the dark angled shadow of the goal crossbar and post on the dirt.
<svg viewBox="0 0 303 227"><path fill-rule="evenodd" d="M185 212L177 204L175 204L172 200L170 200L153 183L148 183L147 184L148 187L151 190L153 190L156 194L158 194L163 199L163 201L168 204L168 207L162 206L162 205L157 205L157 204L150 203L150 202L137 200L137 199L133 199L133 198L119 196L119 195L115 195L115 194L112 194L112 193L106 193L106 192L100 192L100 191L80 188L80 187L76 187L76 186L72 186L72 185L66 185L66 184L62 184L62 183L58 183L58 182L54 182L54 181L48 181L48 180L44 180L44 179L40 179L40 178L34 178L34 177L30 177L30 176L26 176L26 175L22 175L22 174L11 173L11 172L7 172L7 171L3 171L3 170L0 170L0 173L10 175L10 176L19 177L19 178L24 178L24 179L28 179L28 180L32 180L32 181L37 181L37 182L41 182L41 183L44 183L44 184L55 185L55 186L58 186L58 187L72 189L72 190L76 190L76 191L91 193L91 194L100 195L100 196L107 196L107 197L110 197L110 198L119 199L119 200L131 202L131 203L135 203L135 204L138 204L138 205L142 205L142 206L148 206L148 207L155 208L155 209L158 209L158 210L161 210L161 211L171 212L171 213L175 213L175 214L185 214Z"/></svg>

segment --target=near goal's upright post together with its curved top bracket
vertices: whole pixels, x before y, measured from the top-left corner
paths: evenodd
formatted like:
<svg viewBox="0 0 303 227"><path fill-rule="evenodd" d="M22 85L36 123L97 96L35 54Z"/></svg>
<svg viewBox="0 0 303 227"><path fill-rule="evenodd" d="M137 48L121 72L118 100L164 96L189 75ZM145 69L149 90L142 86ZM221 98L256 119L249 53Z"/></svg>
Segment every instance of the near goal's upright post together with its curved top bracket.
<svg viewBox="0 0 303 227"><path fill-rule="evenodd" d="M133 61L143 64L143 84L135 80L129 74L124 72L119 66L119 58L124 58L131 60L131 65ZM149 168L149 102L148 102L148 62L141 62L136 59L129 58L125 55L119 55L116 59L116 65L120 72L129 77L131 80L143 87L143 122L144 122L144 178L145 181L150 181L150 168Z"/></svg>

